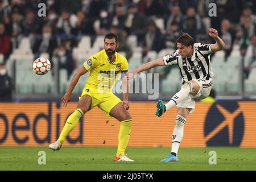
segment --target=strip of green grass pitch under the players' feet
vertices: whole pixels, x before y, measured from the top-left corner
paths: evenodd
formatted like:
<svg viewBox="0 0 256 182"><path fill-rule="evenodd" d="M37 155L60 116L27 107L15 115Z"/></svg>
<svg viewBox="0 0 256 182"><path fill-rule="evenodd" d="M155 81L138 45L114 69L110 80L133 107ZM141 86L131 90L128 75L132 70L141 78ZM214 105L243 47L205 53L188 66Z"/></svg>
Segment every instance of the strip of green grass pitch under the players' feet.
<svg viewBox="0 0 256 182"><path fill-rule="evenodd" d="M39 165L39 151L46 152L46 164ZM0 147L0 170L256 170L256 148L180 148L179 162L161 163L170 148L128 147L134 163L114 163L116 147L65 147L53 152L46 147ZM217 164L210 165L209 151L216 151Z"/></svg>

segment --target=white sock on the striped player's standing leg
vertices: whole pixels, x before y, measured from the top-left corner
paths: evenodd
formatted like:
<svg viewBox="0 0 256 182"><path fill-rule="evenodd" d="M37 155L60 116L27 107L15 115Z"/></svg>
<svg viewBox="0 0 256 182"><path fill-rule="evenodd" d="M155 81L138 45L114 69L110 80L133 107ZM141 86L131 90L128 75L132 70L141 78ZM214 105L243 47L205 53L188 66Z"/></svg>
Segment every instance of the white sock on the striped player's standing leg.
<svg viewBox="0 0 256 182"><path fill-rule="evenodd" d="M187 121L182 115L177 115L176 124L174 127L174 132L172 133L172 151L177 156L177 151L179 150L180 142L183 139L183 129L185 122Z"/></svg>

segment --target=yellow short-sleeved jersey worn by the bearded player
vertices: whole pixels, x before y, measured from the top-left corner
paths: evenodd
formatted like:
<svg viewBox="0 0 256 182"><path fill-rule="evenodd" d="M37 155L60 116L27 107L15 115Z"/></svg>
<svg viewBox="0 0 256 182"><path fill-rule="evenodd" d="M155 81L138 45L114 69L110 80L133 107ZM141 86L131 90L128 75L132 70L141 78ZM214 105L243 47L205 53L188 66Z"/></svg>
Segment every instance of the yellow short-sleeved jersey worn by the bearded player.
<svg viewBox="0 0 256 182"><path fill-rule="evenodd" d="M115 60L110 62L105 49L90 56L83 65L90 71L85 88L97 89L99 93L112 92L117 77L120 73L121 77L124 77L129 67L126 58L117 52Z"/></svg>

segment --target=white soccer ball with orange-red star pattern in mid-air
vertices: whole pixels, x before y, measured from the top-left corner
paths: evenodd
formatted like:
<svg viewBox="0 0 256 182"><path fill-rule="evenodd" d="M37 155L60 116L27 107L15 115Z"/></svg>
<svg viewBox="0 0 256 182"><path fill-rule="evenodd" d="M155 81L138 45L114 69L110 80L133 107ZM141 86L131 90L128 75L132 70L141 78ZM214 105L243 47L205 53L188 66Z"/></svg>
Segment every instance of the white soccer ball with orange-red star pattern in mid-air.
<svg viewBox="0 0 256 182"><path fill-rule="evenodd" d="M46 57L39 57L33 63L33 71L37 75L45 75L51 69L51 62Z"/></svg>

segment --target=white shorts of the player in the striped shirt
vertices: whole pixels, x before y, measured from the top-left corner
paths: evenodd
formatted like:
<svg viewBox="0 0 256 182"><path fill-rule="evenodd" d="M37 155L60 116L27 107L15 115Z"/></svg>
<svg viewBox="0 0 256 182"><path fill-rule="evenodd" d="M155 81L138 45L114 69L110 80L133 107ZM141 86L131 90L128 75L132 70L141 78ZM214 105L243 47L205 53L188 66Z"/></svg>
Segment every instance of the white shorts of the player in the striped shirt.
<svg viewBox="0 0 256 182"><path fill-rule="evenodd" d="M189 113L192 113L195 110L195 100L196 99L203 99L205 97L208 97L210 94L210 90L212 89L213 80L204 80L204 79L197 79L193 80L196 81L197 84L200 85L200 90L196 94L196 96L192 96L192 94L188 95L188 98L177 104L177 107L184 107L184 108L190 108L191 111Z"/></svg>

